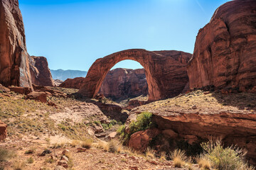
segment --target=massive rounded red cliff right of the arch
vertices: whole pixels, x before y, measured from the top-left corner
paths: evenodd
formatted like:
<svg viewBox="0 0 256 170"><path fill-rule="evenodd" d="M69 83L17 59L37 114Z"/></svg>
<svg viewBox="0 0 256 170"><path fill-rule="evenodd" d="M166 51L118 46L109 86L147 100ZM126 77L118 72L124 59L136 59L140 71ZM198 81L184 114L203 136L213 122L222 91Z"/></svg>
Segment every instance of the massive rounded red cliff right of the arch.
<svg viewBox="0 0 256 170"><path fill-rule="evenodd" d="M199 30L188 62L190 88L256 89L256 1L236 0L220 6Z"/></svg>

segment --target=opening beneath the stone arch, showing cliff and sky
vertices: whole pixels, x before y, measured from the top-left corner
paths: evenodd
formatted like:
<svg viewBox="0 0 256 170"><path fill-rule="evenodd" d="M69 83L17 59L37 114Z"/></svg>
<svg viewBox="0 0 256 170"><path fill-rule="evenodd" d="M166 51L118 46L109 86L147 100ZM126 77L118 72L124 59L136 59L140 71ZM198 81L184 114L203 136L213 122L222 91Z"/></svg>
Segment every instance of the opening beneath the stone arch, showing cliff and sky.
<svg viewBox="0 0 256 170"><path fill-rule="evenodd" d="M147 101L149 92L144 67L134 60L118 62L107 73L97 93L118 103L138 96Z"/></svg>

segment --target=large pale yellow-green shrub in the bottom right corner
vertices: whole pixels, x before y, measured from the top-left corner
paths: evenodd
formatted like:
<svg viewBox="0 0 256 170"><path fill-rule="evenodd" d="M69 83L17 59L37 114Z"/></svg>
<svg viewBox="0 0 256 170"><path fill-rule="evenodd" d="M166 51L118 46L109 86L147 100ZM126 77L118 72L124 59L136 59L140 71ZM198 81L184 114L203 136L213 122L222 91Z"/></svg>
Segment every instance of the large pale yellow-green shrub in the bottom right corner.
<svg viewBox="0 0 256 170"><path fill-rule="evenodd" d="M235 146L224 147L220 140L215 142L210 141L202 143L204 149L203 157L210 160L213 168L218 170L247 170L254 169L252 166L248 166L245 161L244 149L240 149Z"/></svg>

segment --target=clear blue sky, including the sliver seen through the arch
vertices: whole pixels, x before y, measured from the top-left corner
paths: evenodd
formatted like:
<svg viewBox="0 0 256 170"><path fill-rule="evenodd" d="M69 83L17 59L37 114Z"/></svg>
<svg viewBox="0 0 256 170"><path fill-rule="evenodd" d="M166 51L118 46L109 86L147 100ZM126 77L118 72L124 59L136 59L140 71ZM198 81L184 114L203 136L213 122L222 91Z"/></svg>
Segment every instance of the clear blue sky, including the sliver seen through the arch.
<svg viewBox="0 0 256 170"><path fill-rule="evenodd" d="M196 35L227 0L19 0L30 55L50 69L87 71L131 48L193 53ZM131 60L114 66L136 69Z"/></svg>

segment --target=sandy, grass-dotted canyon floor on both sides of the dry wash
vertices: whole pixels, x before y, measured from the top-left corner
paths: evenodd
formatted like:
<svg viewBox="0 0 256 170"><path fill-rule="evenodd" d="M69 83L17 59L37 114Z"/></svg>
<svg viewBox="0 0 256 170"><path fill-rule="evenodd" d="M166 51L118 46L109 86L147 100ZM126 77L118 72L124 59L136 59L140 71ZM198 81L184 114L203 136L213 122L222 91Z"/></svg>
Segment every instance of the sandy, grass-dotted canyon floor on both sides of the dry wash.
<svg viewBox="0 0 256 170"><path fill-rule="evenodd" d="M74 89L53 89L65 94L75 92ZM5 169L14 169L15 166L23 169L55 169L65 149L69 150L68 169L178 169L174 168L172 161L163 157L142 154L121 145L117 145L118 152L115 153L106 149L110 133L116 131L122 123L105 115L97 103L122 104L107 99L100 102L96 99L77 100L73 96L48 96L48 101L56 106L25 100L24 95L12 91L0 93L0 120L8 125L8 136L0 147L12 152L10 159L0 162ZM222 109L255 113L256 94L227 95L221 92L193 91L139 106L131 112L167 114L172 111L203 110L217 113ZM129 111L126 112L129 114ZM82 141L87 140L93 141L90 149L78 152ZM45 150L50 153L41 155ZM180 169L188 167L199 169L197 164L188 164Z"/></svg>

